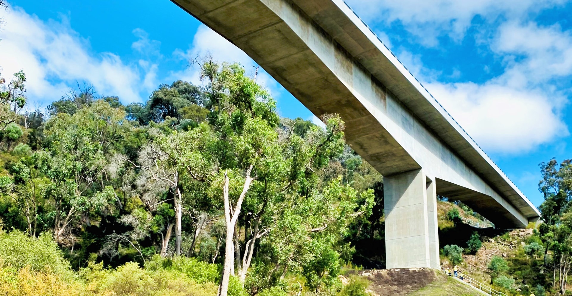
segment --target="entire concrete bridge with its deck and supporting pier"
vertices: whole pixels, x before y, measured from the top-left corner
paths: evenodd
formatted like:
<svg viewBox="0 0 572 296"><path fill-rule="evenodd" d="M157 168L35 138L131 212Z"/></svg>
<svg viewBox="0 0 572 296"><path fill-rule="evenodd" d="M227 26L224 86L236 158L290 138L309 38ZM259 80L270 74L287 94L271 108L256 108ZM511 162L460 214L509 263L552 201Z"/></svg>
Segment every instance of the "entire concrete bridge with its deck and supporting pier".
<svg viewBox="0 0 572 296"><path fill-rule="evenodd" d="M312 113L338 113L384 176L387 268L439 268L436 195L496 227L539 211L342 0L172 0Z"/></svg>

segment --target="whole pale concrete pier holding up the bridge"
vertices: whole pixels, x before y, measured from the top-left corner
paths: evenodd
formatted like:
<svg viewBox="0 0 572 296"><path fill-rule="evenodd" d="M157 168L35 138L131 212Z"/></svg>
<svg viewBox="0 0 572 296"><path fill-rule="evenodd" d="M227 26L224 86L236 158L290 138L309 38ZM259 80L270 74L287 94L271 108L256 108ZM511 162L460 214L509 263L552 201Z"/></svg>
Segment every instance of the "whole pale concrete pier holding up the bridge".
<svg viewBox="0 0 572 296"><path fill-rule="evenodd" d="M384 177L387 268L439 268L435 182L422 169Z"/></svg>

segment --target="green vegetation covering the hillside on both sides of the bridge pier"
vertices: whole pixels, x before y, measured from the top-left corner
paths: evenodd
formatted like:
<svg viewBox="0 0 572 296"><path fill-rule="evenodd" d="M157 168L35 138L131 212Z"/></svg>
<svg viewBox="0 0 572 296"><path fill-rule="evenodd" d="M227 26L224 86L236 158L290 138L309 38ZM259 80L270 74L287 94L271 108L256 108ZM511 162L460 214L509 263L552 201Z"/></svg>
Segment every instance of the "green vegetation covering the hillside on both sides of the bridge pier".
<svg viewBox="0 0 572 296"><path fill-rule="evenodd" d="M383 178L343 121L281 118L240 64L198 66L201 86L145 103L78 83L35 111L23 71L0 78L0 294L367 295L338 276L385 267ZM507 294L565 295L571 163L541 164L543 223L520 240L440 197L442 264Z"/></svg>

